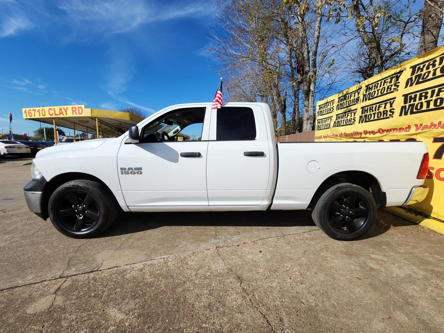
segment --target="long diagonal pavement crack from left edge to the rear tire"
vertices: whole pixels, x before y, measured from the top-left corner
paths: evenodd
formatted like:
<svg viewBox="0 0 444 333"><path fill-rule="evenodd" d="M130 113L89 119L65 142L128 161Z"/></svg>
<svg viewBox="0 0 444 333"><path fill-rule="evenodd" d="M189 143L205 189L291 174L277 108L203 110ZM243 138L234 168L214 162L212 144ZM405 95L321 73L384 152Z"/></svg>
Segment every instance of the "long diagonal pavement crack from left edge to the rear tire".
<svg viewBox="0 0 444 333"><path fill-rule="evenodd" d="M94 269L94 270L88 270L88 271L86 271L86 272L81 272L81 273L74 273L74 274L63 275L63 276L60 275L59 277L52 277L52 278L45 279L45 280L41 280L41 281L29 282L29 283L24 283L23 285L16 285L16 286L12 286L12 287L3 288L3 289L0 289L0 292L2 292L2 291L6 291L6 290L17 289L17 288L21 288L21 287L27 287L28 285L37 285L37 284L39 284L39 283L48 282L48 281L56 281L56 280L58 280L58 279L60 279L60 278L69 278L69 277L78 276L78 275L83 275L83 274L90 274L90 273L96 273L96 272L103 272L103 271L105 271L105 270L113 270L113 269L115 269L115 268L126 267L126 266L131 266L131 265L137 265L137 264L141 264L141 263L148 263L148 262L152 262L152 261L155 261L155 260L162 260L162 259L166 259L166 258L174 258L174 257L178 257L178 256L181 256L181 255L184 255L184 254L192 254L192 253L201 252L201 251L207 251L207 250L216 250L216 248L217 248L217 250L218 250L218 249L223 249L223 248L225 248L225 247L238 246L238 245L240 246L240 245L242 245L242 244L254 243L254 242L258 242L258 241L264 240L264 239L280 238L280 237L292 236L292 235L297 235L297 234L305 234L305 233L313 232L313 231L319 231L319 229L316 229L316 230L309 230L309 231L304 231L304 232L298 232L298 233L293 233L293 234L286 234L285 236L274 236L274 237L260 238L260 239L255 239L254 241L250 241L250 242L242 242L242 243L238 243L238 244L230 244L230 245L216 246L216 247L211 246L211 247L208 247L208 248L206 248L206 249L193 250L193 251L182 252L182 253L178 253L178 254L166 255L166 256L163 256L163 257L159 257L159 258L152 258L152 259L149 259L149 260L141 260L141 261L139 261L139 262L131 262L131 263L129 263L129 264L123 264L123 265L118 265L118 266L112 266L112 267L104 268L103 270L97 270L97 269ZM92 238L91 238L91 239L92 239ZM90 239L90 240L91 240L91 239ZM89 241L89 240L88 240L88 241ZM82 245L84 245L84 244L86 244L86 242L83 243ZM81 247L81 246L80 246L80 247ZM74 255L75 255L75 254L74 254ZM74 255L73 255L72 257L74 257ZM72 257L71 257L71 258L72 258ZM68 262L68 265L69 265L69 262ZM65 269L65 270L66 270L66 269ZM65 270L62 272L62 274L65 272Z"/></svg>

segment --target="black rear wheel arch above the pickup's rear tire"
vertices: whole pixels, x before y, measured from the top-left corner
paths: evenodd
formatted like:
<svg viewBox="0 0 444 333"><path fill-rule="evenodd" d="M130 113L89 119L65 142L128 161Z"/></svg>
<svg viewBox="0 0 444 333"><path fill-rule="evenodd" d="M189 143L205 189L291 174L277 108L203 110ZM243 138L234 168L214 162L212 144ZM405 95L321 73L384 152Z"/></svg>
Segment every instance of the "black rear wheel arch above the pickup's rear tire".
<svg viewBox="0 0 444 333"><path fill-rule="evenodd" d="M310 201L309 207L313 209L321 195L328 190L331 186L343 182L349 182L351 184L361 186L373 196L377 205L382 209L387 204L387 198L385 192L382 191L381 184L373 174L369 174L360 170L347 170L340 171L330 175L326 178L321 185L317 188L313 198Z"/></svg>

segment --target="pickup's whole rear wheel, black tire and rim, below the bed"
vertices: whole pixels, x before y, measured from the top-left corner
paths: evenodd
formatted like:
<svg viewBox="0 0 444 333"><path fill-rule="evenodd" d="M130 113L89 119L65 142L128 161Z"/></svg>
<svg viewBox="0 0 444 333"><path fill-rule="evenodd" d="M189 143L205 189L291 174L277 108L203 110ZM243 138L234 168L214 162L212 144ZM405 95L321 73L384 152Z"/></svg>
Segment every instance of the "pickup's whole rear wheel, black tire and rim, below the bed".
<svg viewBox="0 0 444 333"><path fill-rule="evenodd" d="M340 183L321 195L311 216L319 229L329 237L352 241L362 237L373 226L376 203L361 186Z"/></svg>

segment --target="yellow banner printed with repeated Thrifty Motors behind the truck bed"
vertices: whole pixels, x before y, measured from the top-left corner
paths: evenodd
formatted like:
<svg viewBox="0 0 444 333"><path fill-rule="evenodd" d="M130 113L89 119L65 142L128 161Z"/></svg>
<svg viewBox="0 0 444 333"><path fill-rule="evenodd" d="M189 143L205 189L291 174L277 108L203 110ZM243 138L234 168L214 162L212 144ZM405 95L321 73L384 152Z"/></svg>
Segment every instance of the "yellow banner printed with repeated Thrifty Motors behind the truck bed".
<svg viewBox="0 0 444 333"><path fill-rule="evenodd" d="M424 141L428 197L416 205L444 219L444 46L317 102L316 141ZM394 174L396 177L396 174Z"/></svg>

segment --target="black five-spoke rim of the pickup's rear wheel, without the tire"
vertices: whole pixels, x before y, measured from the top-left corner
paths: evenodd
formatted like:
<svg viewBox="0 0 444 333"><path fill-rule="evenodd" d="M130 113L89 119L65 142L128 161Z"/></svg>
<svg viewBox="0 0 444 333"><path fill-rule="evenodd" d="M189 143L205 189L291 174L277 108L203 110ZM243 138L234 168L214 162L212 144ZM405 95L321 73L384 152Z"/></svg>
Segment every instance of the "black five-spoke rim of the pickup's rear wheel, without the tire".
<svg viewBox="0 0 444 333"><path fill-rule="evenodd" d="M369 207L366 206L366 201L358 195L340 196L330 205L330 223L339 232L355 232L361 229L367 218L369 218Z"/></svg>

